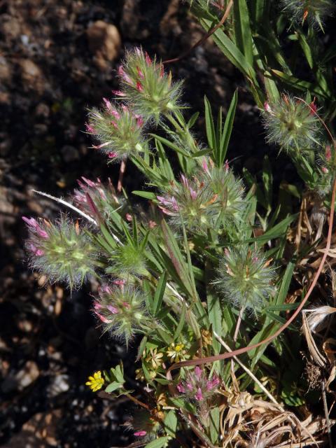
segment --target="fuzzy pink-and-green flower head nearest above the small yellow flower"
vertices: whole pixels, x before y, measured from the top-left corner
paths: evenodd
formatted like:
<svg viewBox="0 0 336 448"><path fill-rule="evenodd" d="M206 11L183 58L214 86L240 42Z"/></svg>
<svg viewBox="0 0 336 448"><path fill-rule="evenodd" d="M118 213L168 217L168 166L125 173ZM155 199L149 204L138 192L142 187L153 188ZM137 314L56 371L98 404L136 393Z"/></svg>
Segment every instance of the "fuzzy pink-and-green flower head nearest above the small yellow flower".
<svg viewBox="0 0 336 448"><path fill-rule="evenodd" d="M93 308L104 331L122 339L127 346L137 330L151 328L143 293L134 286L125 285L125 281L117 280L111 286L102 286Z"/></svg>

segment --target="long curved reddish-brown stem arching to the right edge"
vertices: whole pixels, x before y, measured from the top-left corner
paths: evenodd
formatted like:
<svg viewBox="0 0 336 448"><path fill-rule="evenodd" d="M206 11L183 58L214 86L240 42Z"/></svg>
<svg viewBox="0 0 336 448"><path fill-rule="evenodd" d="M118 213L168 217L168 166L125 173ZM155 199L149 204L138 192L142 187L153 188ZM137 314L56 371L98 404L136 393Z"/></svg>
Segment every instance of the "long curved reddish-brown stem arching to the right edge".
<svg viewBox="0 0 336 448"><path fill-rule="evenodd" d="M330 249L330 244L331 244L332 223L334 221L335 196L336 196L336 179L334 179L333 186L332 186L332 199L331 199L331 207L330 207L330 219L329 219L328 237L327 237L327 244L325 245L325 251L323 253L323 257L321 259L320 265L318 266L318 269L316 271L314 279L313 279L313 281L311 281L311 285L309 286L309 289L307 290L306 295L304 295L304 298L303 298L302 302L300 303L299 307L297 307L296 311L288 319L288 321L286 321L286 323L284 323L279 328L279 330L277 330L273 335L270 335L269 337L266 337L265 339L263 339L261 342L258 342L257 344L252 344L252 345L246 346L246 347L241 348L241 349L228 351L226 353L222 353L221 355L207 356L207 358L193 359L193 360L182 361L181 363L173 364L171 367L169 367L169 369L167 371L167 375L169 375L171 377L170 372L172 372L172 370L181 369L181 367L189 367L190 365L202 365L202 364L207 364L207 363L214 363L217 360L228 359L228 358L232 358L232 356L241 355L242 353L246 353L246 351L250 351L250 350L256 349L257 347L259 347L262 344L267 344L268 342L271 342L273 339L278 337L281 334L281 332L283 332L283 330L286 330L288 325L290 325L290 323L292 323L294 321L294 319L297 317L297 315L300 313L300 311L304 307L304 304L309 299L312 290L316 286L316 283L318 281L318 277L320 276L320 274L322 272L323 265L324 265L325 260L326 260L326 258L328 256L328 251Z"/></svg>

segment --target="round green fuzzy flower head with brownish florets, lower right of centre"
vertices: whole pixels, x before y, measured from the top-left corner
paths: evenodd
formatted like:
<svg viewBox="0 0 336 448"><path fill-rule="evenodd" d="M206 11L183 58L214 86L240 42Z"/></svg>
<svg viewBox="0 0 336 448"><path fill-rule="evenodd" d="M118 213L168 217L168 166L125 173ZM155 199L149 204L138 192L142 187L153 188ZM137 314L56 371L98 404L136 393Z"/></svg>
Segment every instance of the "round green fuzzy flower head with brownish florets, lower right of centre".
<svg viewBox="0 0 336 448"><path fill-rule="evenodd" d="M223 297L239 309L261 311L265 300L272 295L274 267L265 260L260 251L243 246L225 249L218 268L215 284Z"/></svg>

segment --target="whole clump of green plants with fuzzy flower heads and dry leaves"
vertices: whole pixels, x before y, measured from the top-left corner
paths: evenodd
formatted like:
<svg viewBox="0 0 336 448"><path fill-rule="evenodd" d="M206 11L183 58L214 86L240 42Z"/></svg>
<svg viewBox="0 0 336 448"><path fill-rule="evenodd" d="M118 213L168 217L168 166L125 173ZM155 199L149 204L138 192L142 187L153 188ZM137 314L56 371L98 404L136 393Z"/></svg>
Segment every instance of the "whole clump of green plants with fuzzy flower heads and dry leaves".
<svg viewBox="0 0 336 448"><path fill-rule="evenodd" d="M268 2L256 3L267 14ZM288 13L295 2L286 3ZM305 3L307 18L314 13L319 23L324 3L317 2L321 10ZM208 30L218 22L216 6L192 2ZM227 12L231 7L228 1ZM122 365L93 372L87 386L134 402L128 426L148 448L173 446L173 440L183 447L308 445L322 442L334 423L321 415L310 425L309 406L318 396L307 393L300 351L307 341L309 363L325 372L314 387L328 389L335 359L323 322L335 307L304 310L302 337L293 321L325 269L335 145L311 100L313 87L309 92L304 84L303 99L279 94L266 73L264 88L260 85L253 64L269 70L263 66L272 60L267 51L278 44L275 36L269 48L265 40L254 43L251 29L258 28L258 14L244 0L235 2L233 19L228 15L232 41L221 27L214 39L248 77L267 140L286 151L297 168L301 190L287 185L286 192L295 197L300 214L288 207L286 196L276 194L267 157L258 179L247 170L239 176L228 163L237 92L225 120L222 110L214 120L205 99L207 143L200 146L192 132L197 114L186 119L181 82L172 81L157 57L135 48L118 71L118 98L104 99L102 111L90 111L87 132L110 160L124 168L126 160L132 162L146 186L130 195L122 188L116 193L111 182L82 179L71 201L62 203L87 225L64 216L56 223L24 218L31 266L71 289L94 276L100 283L92 303L98 324L127 346L137 345L137 393L129 390ZM252 49L261 57L251 57ZM279 55L276 60L286 63ZM290 70L273 74L290 86ZM141 213L134 196L148 201ZM316 269L313 280L307 263ZM334 276L326 282L329 294L336 288ZM293 279L302 287L299 292ZM316 332L320 339L314 339ZM248 356L239 358L242 353ZM145 387L146 400L139 399Z"/></svg>

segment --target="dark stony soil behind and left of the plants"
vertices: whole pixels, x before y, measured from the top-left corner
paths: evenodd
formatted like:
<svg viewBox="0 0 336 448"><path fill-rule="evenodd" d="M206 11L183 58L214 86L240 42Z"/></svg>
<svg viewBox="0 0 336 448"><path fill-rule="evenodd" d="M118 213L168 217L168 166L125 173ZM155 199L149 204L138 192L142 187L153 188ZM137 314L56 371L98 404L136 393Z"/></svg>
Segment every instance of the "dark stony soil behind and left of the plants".
<svg viewBox="0 0 336 448"><path fill-rule="evenodd" d="M106 167L88 148L83 130L87 107L117 87L123 48L142 45L167 59L190 48L203 31L178 0L1 0L0 13L0 443L125 446L132 437L120 425L132 406L123 398L102 400L85 381L120 359L132 378L134 357L96 328L90 288L97 285L70 295L62 286L43 286L29 271L21 216L57 215L56 204L32 189L64 196L80 176L110 176L116 183L118 167ZM87 34L97 20L116 26L119 52L110 45L112 37L106 50L104 36L92 41ZM202 111L204 94L214 109L226 109L239 87L229 155L239 168L258 167L267 151L258 111L241 76L211 40L171 69L186 79L184 98L195 110ZM202 138L202 119L198 126ZM129 190L143 181L133 174L128 167Z"/></svg>

